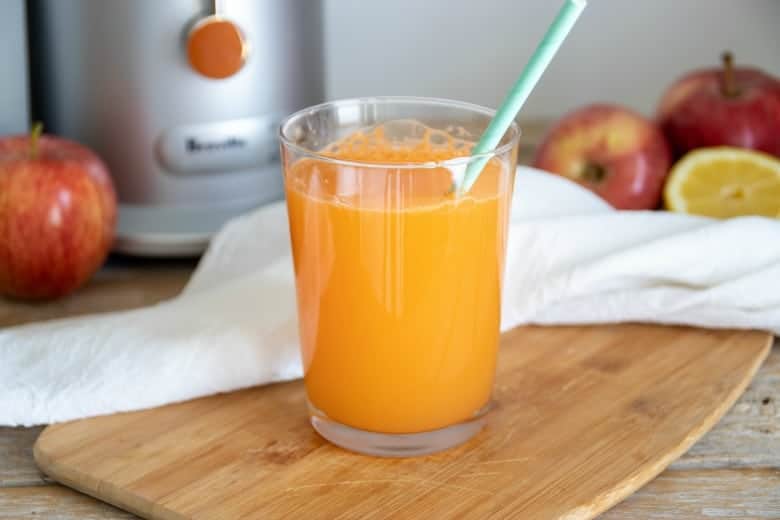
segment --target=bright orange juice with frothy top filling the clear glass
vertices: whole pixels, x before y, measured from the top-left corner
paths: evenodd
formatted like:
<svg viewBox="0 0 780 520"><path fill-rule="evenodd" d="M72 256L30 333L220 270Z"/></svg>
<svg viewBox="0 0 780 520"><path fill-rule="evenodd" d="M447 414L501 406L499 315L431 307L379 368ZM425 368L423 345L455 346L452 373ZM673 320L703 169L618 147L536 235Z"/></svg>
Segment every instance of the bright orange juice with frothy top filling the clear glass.
<svg viewBox="0 0 780 520"><path fill-rule="evenodd" d="M307 395L360 430L435 430L490 399L514 164L455 196L431 162L471 143L439 134L380 126L285 168Z"/></svg>

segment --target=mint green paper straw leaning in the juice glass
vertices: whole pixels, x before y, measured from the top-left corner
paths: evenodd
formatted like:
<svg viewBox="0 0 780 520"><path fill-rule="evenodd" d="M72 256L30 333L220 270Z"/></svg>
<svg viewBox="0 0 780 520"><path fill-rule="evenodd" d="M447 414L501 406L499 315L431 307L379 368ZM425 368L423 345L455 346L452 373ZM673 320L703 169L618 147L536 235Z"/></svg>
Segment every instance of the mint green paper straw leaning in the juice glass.
<svg viewBox="0 0 780 520"><path fill-rule="evenodd" d="M512 124L525 100L528 99L531 91L539 82L539 78L542 77L544 70L552 61L555 53L558 52L563 40L566 39L569 31L574 27L574 23L579 18L580 13L585 9L585 4L585 0L566 0L563 6L561 6L555 20L547 29L542 41L539 42L525 69L523 69L520 77L517 78L506 99L501 103L501 107L496 112L495 117L490 121L487 129L485 129L485 133L482 134L479 142L474 147L472 155L491 152L501 142L501 138L509 129L509 125ZM474 183L477 182L479 174L482 173L482 169L489 159L490 157L478 157L469 162L458 193L468 193Z"/></svg>

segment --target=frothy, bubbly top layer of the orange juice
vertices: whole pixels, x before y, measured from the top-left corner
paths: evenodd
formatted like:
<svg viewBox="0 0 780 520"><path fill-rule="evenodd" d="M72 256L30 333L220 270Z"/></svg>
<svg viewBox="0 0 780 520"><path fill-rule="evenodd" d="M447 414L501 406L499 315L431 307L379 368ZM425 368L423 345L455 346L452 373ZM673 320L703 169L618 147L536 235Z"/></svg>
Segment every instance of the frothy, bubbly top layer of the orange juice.
<svg viewBox="0 0 780 520"><path fill-rule="evenodd" d="M462 127L448 130L461 135ZM290 189L349 207L424 207L466 197L492 197L506 169L493 157L480 179L464 195L458 193L474 142L431 128L417 120L395 120L365 127L322 148L322 156L305 157L287 175ZM445 162L451 159L461 159ZM398 165L398 167L396 167Z"/></svg>

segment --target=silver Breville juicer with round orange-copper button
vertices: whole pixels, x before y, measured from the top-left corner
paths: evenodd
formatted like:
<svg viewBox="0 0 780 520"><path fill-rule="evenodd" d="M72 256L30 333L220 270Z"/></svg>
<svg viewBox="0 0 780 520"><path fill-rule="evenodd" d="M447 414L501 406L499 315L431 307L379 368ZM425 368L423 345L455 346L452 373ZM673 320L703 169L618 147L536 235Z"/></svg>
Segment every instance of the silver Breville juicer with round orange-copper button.
<svg viewBox="0 0 780 520"><path fill-rule="evenodd" d="M108 164L117 251L197 254L283 196L277 127L323 97L321 26L319 0L30 3L34 113Z"/></svg>

